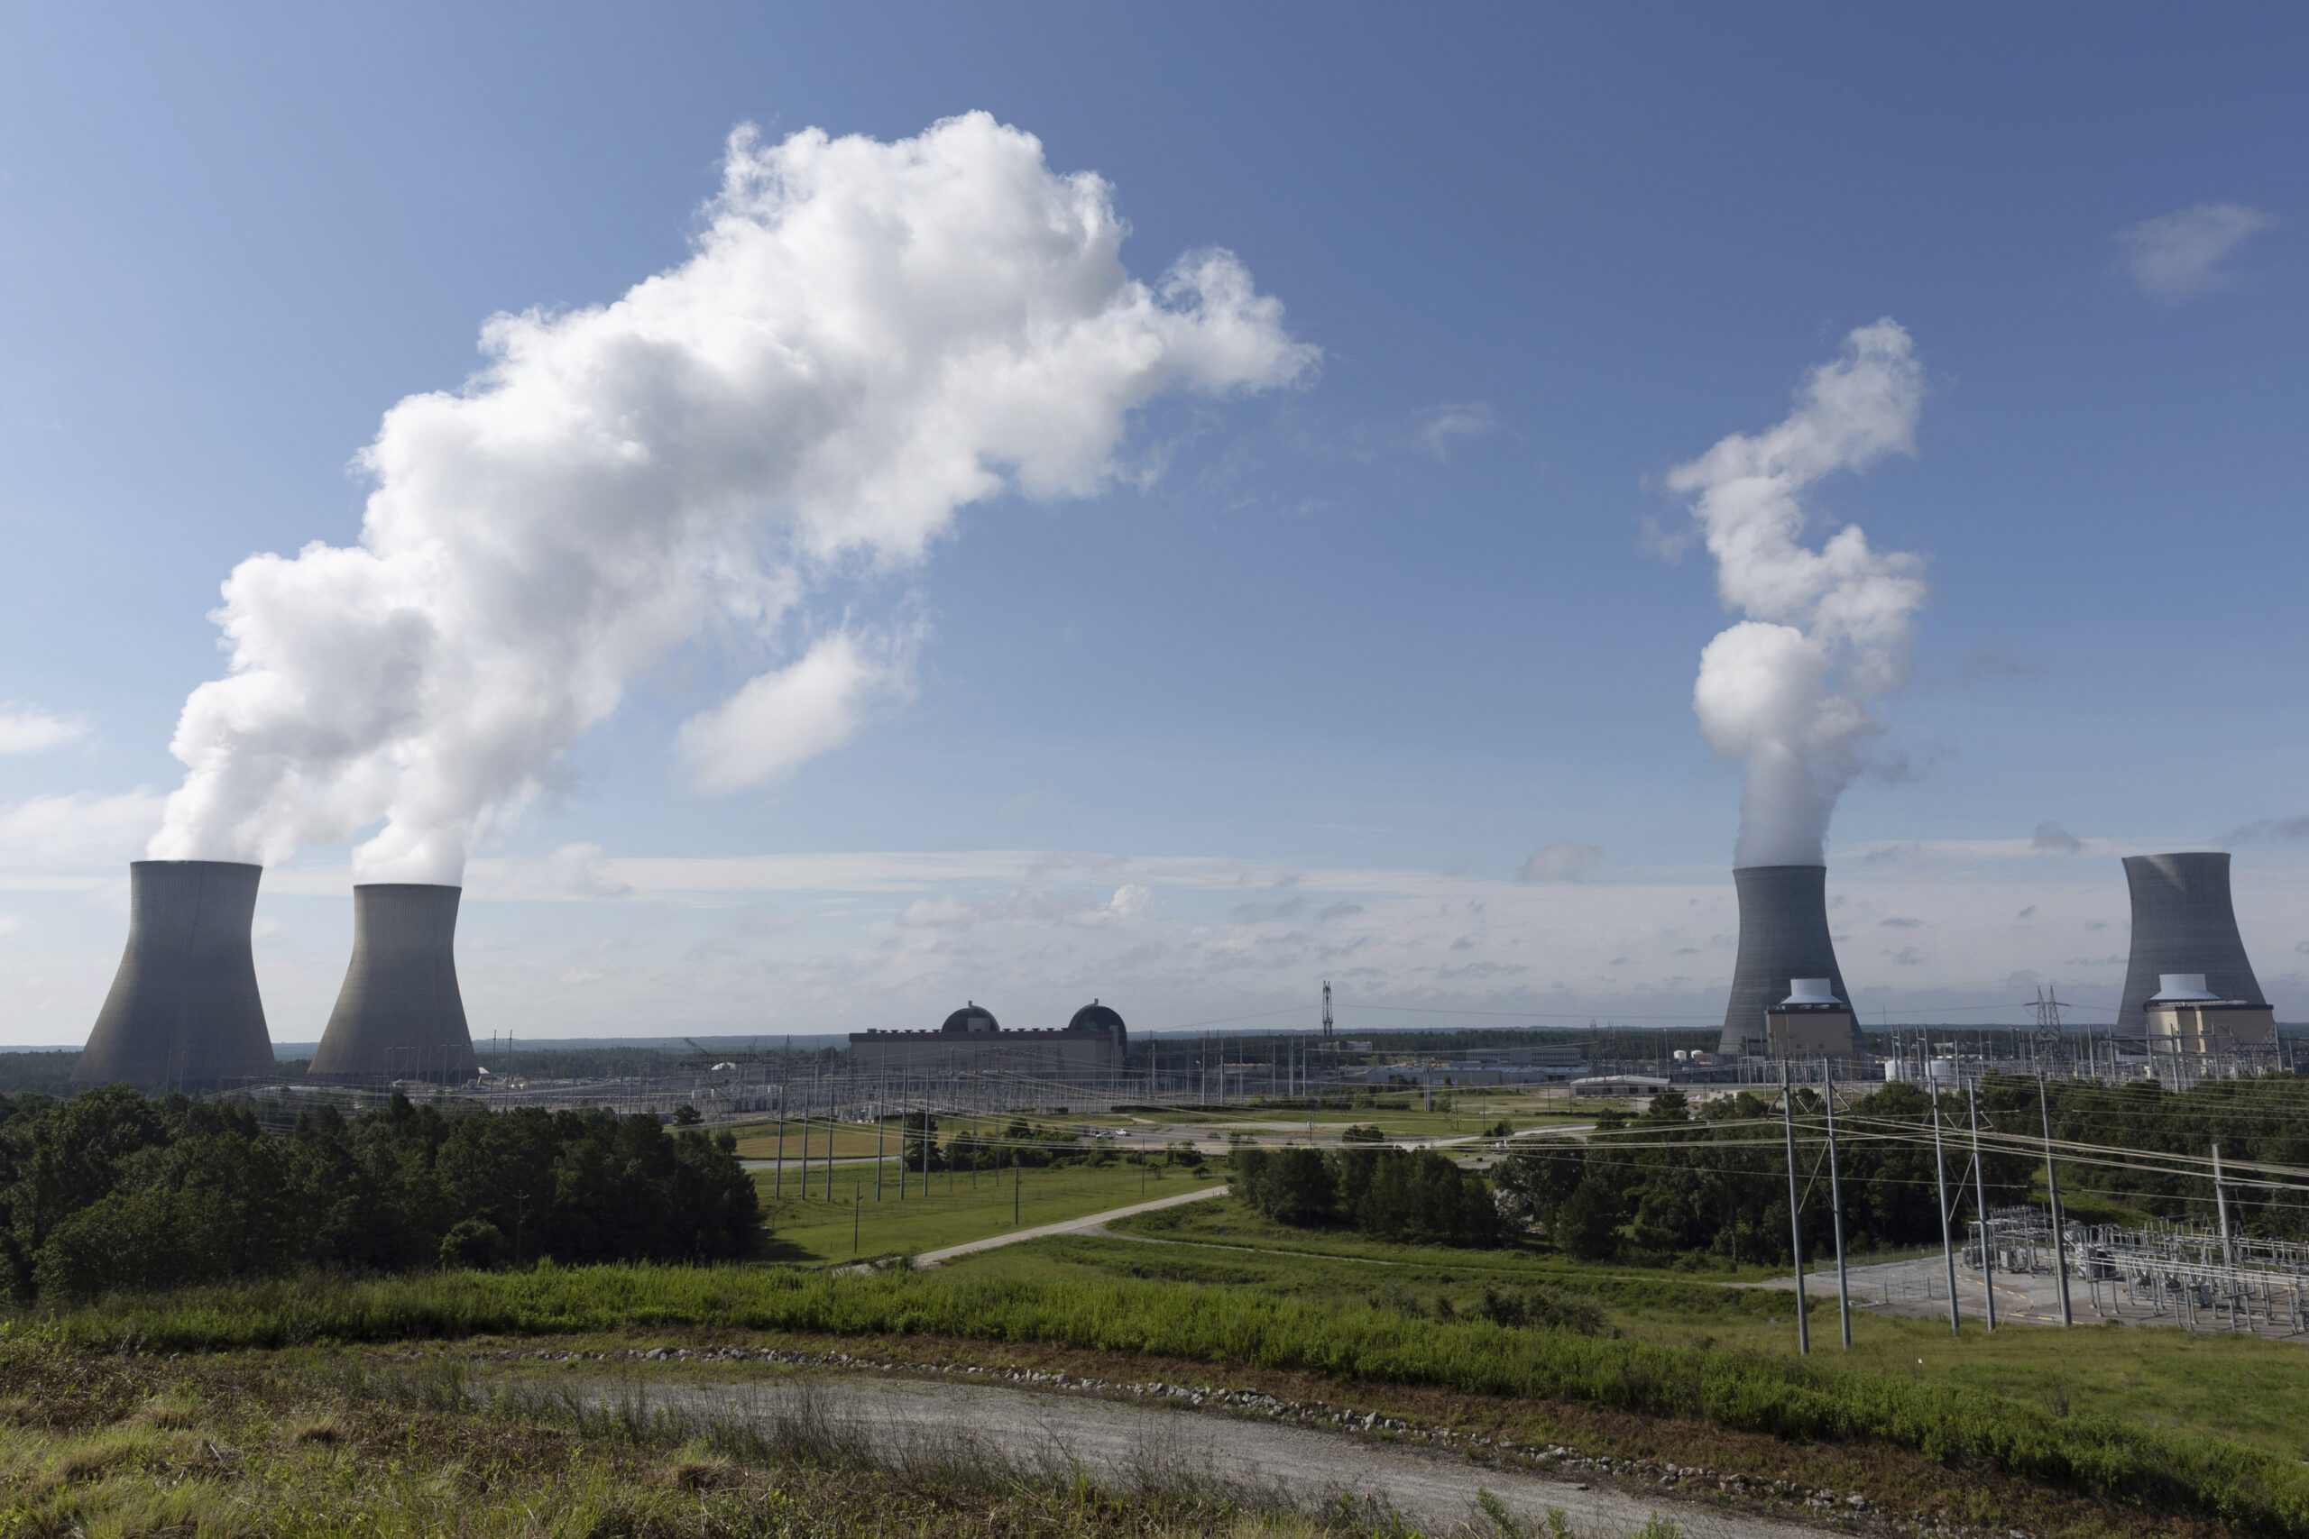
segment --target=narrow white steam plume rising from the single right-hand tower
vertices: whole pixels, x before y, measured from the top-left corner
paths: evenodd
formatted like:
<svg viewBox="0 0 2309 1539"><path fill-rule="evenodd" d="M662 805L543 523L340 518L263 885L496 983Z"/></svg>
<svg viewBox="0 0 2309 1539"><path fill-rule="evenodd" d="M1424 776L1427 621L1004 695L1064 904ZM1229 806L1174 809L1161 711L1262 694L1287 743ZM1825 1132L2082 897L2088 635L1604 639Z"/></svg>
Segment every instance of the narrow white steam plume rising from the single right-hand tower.
<svg viewBox="0 0 2309 1539"><path fill-rule="evenodd" d="M1884 727L1870 706L1907 681L1923 563L1875 551L1854 526L1803 545L1806 491L1838 471L1916 452L1923 369L1893 321L1845 337L1796 408L1676 466L1716 556L1716 593L1743 614L1699 653L1692 711L1709 745L1748 761L1734 865L1819 865L1836 798Z"/></svg>

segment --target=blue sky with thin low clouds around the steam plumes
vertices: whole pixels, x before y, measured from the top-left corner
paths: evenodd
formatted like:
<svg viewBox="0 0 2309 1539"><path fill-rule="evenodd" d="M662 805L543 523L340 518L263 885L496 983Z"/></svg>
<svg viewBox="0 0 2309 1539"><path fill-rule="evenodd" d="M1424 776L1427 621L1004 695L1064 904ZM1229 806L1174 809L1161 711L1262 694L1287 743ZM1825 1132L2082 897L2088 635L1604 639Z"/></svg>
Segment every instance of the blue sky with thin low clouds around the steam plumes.
<svg viewBox="0 0 2309 1539"><path fill-rule="evenodd" d="M965 111L1106 178L1134 277L1231 249L1318 369L1159 397L1097 494L970 501L813 593L910 637L903 688L769 784L702 791L677 752L746 658L637 671L471 849L476 1031L1090 994L1164 1027L1325 976L1353 1024L1720 1013L1741 771L1692 678L1736 616L1704 549L1658 551L1690 526L1665 482L1880 316L1921 360L1916 452L1808 498L1815 542L1859 524L1930 581L1875 704L1907 773L1831 826L1863 1008L2110 1001L2115 856L2175 847L2237 851L2263 981L2309 1008L2293 9L0 25L0 701L65 722L0 755L5 1041L85 1034L178 713L224 671L219 581L358 538L349 464L395 401L457 390L496 311L683 263L732 127ZM342 976L351 842L266 879L279 1041ZM1519 881L1552 844L1577 879Z"/></svg>

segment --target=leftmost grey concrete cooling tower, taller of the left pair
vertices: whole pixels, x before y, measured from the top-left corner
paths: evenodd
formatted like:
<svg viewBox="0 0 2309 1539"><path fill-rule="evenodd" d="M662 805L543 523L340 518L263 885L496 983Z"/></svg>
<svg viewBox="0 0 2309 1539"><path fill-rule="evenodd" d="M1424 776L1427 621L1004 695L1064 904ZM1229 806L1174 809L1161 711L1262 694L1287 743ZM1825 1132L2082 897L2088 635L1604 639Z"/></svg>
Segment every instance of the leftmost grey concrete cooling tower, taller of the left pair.
<svg viewBox="0 0 2309 1539"><path fill-rule="evenodd" d="M72 1082L219 1089L277 1073L249 923L261 865L134 861L129 946Z"/></svg>

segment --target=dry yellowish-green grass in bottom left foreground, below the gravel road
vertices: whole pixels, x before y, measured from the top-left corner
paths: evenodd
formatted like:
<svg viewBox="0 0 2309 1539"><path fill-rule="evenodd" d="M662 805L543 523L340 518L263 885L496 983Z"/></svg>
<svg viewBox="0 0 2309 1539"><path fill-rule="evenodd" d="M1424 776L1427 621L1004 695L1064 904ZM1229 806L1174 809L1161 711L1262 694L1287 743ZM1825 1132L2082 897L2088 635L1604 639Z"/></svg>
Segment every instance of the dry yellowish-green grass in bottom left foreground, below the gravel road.
<svg viewBox="0 0 2309 1539"><path fill-rule="evenodd" d="M499 1389L455 1368L155 1361L0 1343L0 1532L201 1539L1388 1534L1245 1493L988 1449L898 1461L801 1401L739 1424ZM1399 1532L1399 1530L1395 1530Z"/></svg>

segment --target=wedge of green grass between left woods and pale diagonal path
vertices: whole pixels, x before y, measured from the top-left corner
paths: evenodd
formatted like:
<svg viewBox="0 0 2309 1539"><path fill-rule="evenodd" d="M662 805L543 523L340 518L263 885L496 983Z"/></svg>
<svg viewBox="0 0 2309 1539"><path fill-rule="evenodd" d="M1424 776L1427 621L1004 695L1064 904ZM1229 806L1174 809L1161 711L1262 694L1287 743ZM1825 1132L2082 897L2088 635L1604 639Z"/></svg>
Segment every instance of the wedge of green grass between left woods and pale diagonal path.
<svg viewBox="0 0 2309 1539"><path fill-rule="evenodd" d="M873 1165L836 1165L834 1202L827 1202L824 1170L810 1172L810 1198L794 1195L794 1170L785 1172L785 1200L771 1202L771 1172L753 1172L762 1193L762 1211L771 1223L769 1258L806 1267L847 1262L852 1255L896 1255L944 1251L972 1239L991 1239L1014 1230L1032 1230L1064 1218L1085 1218L1106 1209L1154 1198L1217 1186L1224 1177L1194 1177L1182 1165L1051 1165L1025 1170L1011 1218L1011 1172L931 1172L931 1191L921 1191L921 1172L907 1174L907 1195L898 1200L898 1165L882 1170L882 1200L875 1202ZM852 1239L854 1228L854 1239Z"/></svg>

